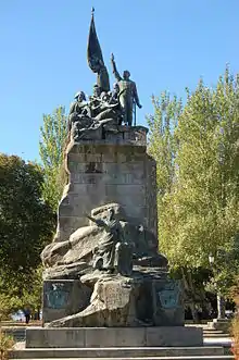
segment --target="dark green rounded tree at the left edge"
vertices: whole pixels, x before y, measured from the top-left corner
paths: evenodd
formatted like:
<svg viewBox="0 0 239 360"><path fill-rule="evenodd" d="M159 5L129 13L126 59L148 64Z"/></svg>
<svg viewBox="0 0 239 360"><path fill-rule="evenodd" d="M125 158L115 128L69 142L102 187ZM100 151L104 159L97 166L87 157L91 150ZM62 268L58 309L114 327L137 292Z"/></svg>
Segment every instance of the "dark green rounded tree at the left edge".
<svg viewBox="0 0 239 360"><path fill-rule="evenodd" d="M23 295L40 264L40 252L52 237L55 214L42 200L39 165L0 154L0 281L1 288Z"/></svg>

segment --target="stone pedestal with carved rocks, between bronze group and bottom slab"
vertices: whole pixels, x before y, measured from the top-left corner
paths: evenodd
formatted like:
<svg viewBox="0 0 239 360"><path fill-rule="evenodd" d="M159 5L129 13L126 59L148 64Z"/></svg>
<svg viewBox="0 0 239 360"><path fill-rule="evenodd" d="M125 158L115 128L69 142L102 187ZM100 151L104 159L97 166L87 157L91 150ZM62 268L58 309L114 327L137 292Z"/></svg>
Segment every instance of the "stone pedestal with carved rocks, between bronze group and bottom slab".
<svg viewBox="0 0 239 360"><path fill-rule="evenodd" d="M180 285L169 280L167 260L158 253L156 167L147 153L147 132L105 126L102 137L68 144L68 184L59 204L58 231L41 255L50 281L43 289L48 326L184 325ZM128 261L118 257L121 266L115 265L116 244L131 249ZM100 245L111 269L96 273ZM133 273L121 271L129 262Z"/></svg>

